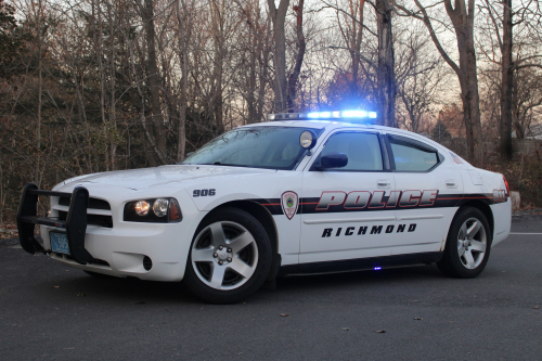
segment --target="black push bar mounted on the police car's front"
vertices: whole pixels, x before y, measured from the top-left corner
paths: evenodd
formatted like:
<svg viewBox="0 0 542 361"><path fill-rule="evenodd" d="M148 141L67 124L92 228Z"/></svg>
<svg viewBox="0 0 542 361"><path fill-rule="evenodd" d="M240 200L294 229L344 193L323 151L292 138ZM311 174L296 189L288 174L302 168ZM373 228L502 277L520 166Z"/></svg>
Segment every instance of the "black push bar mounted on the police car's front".
<svg viewBox="0 0 542 361"><path fill-rule="evenodd" d="M66 220L48 217L37 217L38 196L70 197L69 211ZM83 186L76 186L74 192L42 191L34 183L27 183L23 189L23 197L18 206L17 229L18 240L24 250L29 254L48 253L34 237L35 224L44 224L66 230L70 257L81 265L92 262L94 258L85 248L85 234L87 232L87 208L89 205L89 191Z"/></svg>

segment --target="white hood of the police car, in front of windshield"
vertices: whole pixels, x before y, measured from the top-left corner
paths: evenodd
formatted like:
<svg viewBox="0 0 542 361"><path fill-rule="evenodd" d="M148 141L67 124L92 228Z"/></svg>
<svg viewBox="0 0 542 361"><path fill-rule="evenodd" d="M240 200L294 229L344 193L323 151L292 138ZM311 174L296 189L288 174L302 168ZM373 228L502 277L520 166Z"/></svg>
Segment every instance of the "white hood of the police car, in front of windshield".
<svg viewBox="0 0 542 361"><path fill-rule="evenodd" d="M258 169L258 168L244 168L244 167L228 167L228 166L196 166L196 165L171 165L155 168L130 169L107 171L102 173L94 173L88 176L80 176L68 179L54 189L67 190L76 185L104 184L122 186L131 190L145 190L152 188L165 188L185 184L193 179L210 178L210 177L244 177L246 175L259 175L266 172L276 172L274 169ZM64 186L66 185L66 186Z"/></svg>

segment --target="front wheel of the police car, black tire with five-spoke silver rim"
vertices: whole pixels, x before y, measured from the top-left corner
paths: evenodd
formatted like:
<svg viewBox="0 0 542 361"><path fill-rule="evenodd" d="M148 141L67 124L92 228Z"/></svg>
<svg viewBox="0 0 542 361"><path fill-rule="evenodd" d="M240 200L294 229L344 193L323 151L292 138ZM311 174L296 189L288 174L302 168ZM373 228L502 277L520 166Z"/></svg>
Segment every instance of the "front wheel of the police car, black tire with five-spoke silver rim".
<svg viewBox="0 0 542 361"><path fill-rule="evenodd" d="M241 242L235 243L237 241ZM243 246L244 243L247 245ZM220 246L223 247L219 249ZM193 262L193 255L201 260ZM184 282L205 301L238 302L261 287L271 268L271 243L261 223L242 209L221 208L197 228L190 247ZM241 268L247 276L237 272Z"/></svg>

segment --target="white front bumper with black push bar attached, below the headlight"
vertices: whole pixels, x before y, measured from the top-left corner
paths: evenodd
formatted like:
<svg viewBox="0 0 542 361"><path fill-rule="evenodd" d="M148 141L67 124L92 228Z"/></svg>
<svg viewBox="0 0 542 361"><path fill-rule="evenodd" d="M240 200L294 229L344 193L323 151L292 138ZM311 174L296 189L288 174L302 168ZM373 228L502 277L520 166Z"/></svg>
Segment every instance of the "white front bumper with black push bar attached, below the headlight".
<svg viewBox="0 0 542 361"><path fill-rule="evenodd" d="M79 197L80 194L83 197ZM66 220L37 217L38 195L69 196ZM153 281L182 280L192 235L206 212L185 207L180 223L125 222L114 217L114 227L107 228L87 224L88 199L89 191L82 186L65 193L40 191L31 183L25 185L17 214L23 248L30 254L49 254L57 262L86 271ZM120 208L118 204L115 204L116 208L114 204L112 206L113 215L121 214L116 211ZM55 215L54 210L52 214ZM40 224L43 246L34 237L35 224ZM51 252L52 231L67 234L70 255ZM152 267L149 267L149 260Z"/></svg>

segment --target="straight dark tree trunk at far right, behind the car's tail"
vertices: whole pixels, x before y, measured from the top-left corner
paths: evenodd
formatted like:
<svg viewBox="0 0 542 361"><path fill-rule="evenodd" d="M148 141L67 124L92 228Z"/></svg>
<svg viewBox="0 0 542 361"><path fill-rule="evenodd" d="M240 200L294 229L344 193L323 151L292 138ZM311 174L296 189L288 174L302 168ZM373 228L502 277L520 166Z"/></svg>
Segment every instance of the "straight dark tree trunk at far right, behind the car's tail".
<svg viewBox="0 0 542 361"><path fill-rule="evenodd" d="M503 43L501 80L501 156L512 160L512 90L514 64L512 62L512 0L503 0Z"/></svg>

